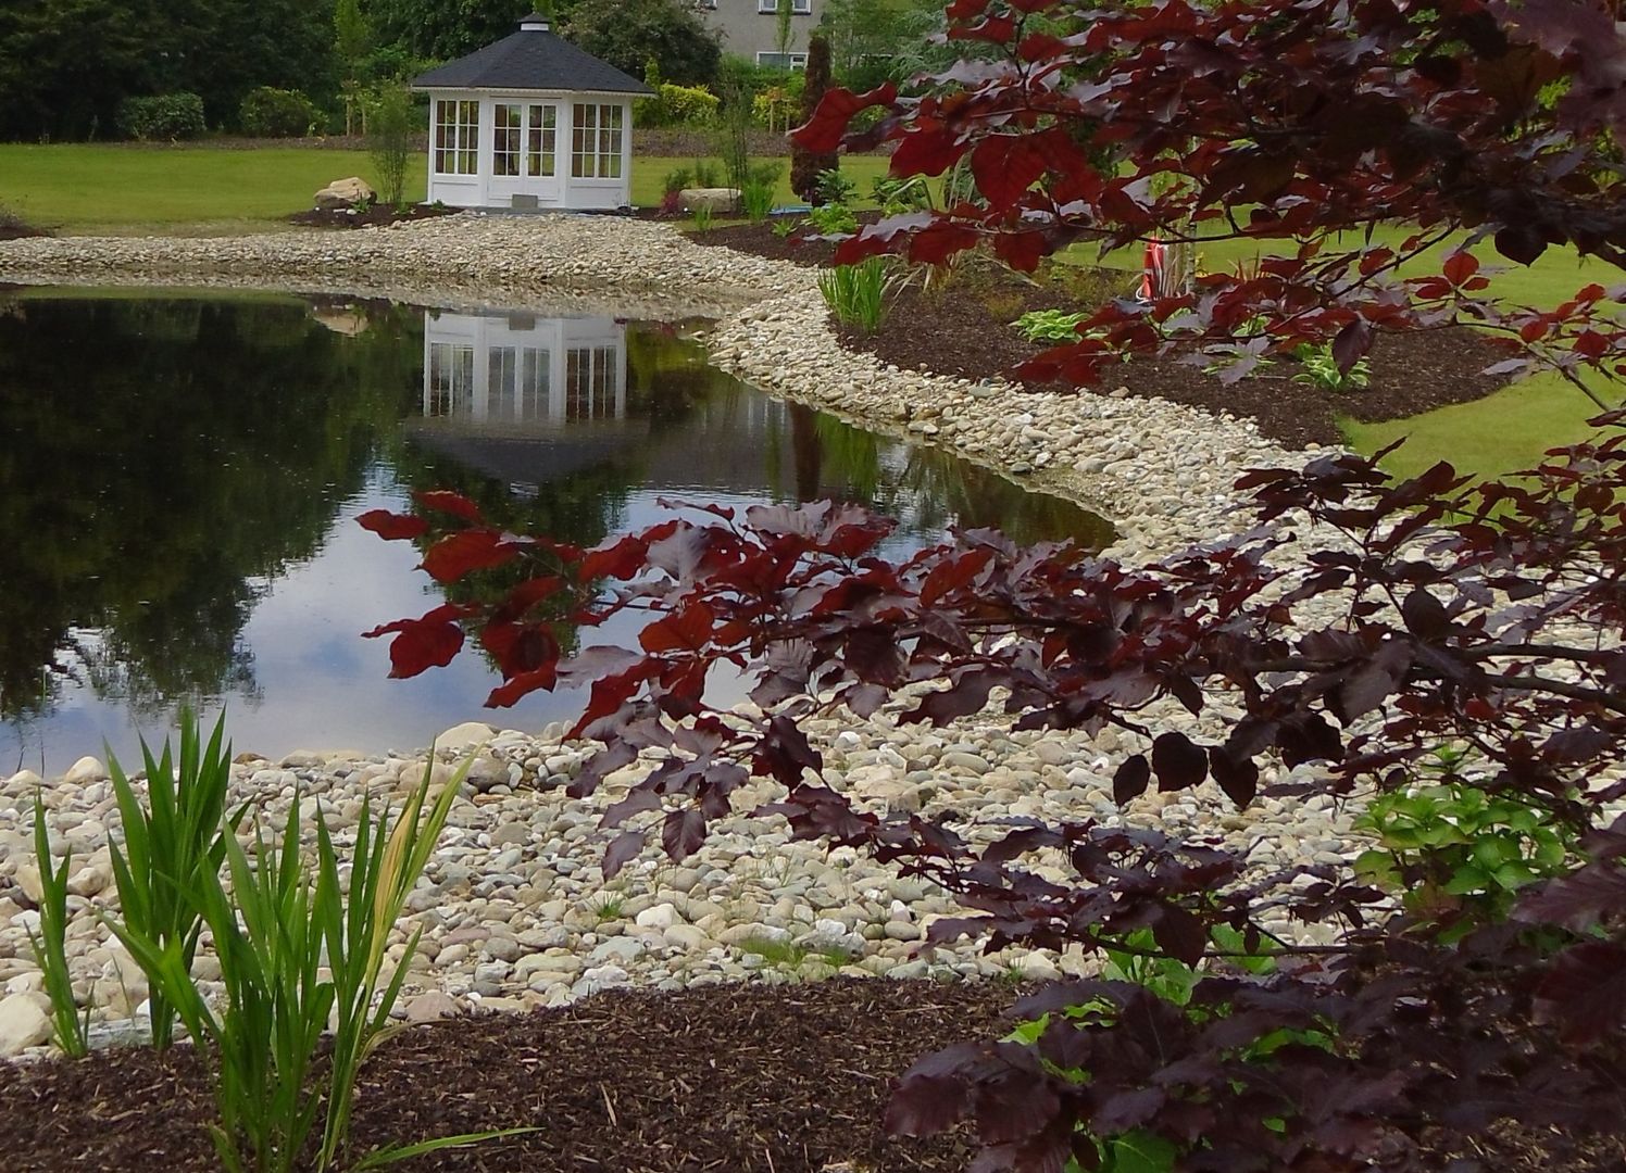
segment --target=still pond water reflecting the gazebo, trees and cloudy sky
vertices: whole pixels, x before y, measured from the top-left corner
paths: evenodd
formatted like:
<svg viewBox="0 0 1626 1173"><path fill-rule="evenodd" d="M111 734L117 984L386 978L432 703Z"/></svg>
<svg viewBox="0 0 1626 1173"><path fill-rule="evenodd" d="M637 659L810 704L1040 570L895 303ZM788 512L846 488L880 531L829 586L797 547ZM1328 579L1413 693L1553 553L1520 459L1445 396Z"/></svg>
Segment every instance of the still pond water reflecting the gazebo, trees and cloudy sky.
<svg viewBox="0 0 1626 1173"><path fill-rule="evenodd" d="M706 366L701 323L283 296L0 292L0 775L137 757L180 703L239 749L415 749L465 720L540 728L576 694L481 707L465 651L390 681L439 588L354 517L450 487L593 544L659 497L837 497L901 520L1101 543L1109 528L940 452ZM593 642L603 642L602 634Z"/></svg>

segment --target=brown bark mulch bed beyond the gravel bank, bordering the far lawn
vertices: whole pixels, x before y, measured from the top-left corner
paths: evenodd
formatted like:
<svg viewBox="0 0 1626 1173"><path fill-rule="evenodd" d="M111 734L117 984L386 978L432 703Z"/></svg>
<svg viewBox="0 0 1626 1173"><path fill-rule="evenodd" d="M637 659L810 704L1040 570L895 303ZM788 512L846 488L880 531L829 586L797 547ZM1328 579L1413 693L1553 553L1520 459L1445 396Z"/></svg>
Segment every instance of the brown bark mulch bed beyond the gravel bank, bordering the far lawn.
<svg viewBox="0 0 1626 1173"><path fill-rule="evenodd" d="M824 265L833 247L776 237L763 224L735 224L689 237L774 260ZM1006 375L1044 346L1028 343L1010 325L1037 309L1078 310L1132 292L1133 275L1122 270L1076 270L1055 265L1039 284L992 265L971 265L946 294L911 284L894 296L873 335L839 330L842 343L911 370L963 379ZM1359 392L1324 392L1293 380L1299 367L1281 361L1234 383L1205 375L1174 359L1137 359L1106 374L1106 388L1135 396L1161 396L1259 422L1260 432L1288 447L1340 444L1338 416L1361 421L1405 419L1452 403L1478 400L1507 385L1506 375L1483 375L1506 351L1472 330L1385 333L1372 344L1371 382ZM1049 385L1057 390L1057 385Z"/></svg>

